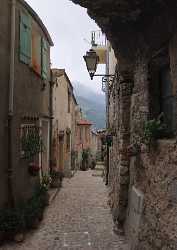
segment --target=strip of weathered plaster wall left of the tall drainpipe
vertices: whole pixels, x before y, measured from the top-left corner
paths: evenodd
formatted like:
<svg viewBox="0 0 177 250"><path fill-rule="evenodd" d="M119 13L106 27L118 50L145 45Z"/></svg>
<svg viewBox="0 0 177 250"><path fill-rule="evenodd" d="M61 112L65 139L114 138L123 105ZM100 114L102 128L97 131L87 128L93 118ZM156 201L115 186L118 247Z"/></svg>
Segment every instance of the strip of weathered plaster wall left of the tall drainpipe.
<svg viewBox="0 0 177 250"><path fill-rule="evenodd" d="M0 207L7 202L7 114L10 49L10 1L0 8Z"/></svg>

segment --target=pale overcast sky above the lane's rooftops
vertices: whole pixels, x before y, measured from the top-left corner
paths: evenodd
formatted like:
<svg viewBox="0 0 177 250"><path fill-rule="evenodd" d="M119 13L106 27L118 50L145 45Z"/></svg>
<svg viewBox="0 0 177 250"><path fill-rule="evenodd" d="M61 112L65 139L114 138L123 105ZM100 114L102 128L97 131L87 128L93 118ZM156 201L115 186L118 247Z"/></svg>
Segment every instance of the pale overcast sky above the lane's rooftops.
<svg viewBox="0 0 177 250"><path fill-rule="evenodd" d="M69 0L26 1L38 13L53 39L52 67L65 68L71 81L79 81L100 92L101 79L89 79L83 60L90 49L91 31L99 29L86 9Z"/></svg>

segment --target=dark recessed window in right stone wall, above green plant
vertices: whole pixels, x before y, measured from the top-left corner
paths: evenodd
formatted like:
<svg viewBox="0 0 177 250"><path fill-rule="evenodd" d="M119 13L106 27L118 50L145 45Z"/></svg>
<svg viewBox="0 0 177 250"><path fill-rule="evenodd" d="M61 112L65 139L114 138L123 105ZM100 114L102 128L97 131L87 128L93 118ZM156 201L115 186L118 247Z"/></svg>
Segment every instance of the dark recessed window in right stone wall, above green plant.
<svg viewBox="0 0 177 250"><path fill-rule="evenodd" d="M165 124L164 138L176 133L176 97L173 94L173 82L170 72L168 49L162 50L149 65L150 118L163 114Z"/></svg>

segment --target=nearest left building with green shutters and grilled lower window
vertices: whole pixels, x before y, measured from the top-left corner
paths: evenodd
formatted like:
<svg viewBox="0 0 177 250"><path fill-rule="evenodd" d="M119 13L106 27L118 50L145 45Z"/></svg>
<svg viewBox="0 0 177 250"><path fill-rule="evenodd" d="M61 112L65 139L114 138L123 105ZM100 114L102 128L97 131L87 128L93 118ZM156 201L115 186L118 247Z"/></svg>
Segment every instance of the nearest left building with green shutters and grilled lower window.
<svg viewBox="0 0 177 250"><path fill-rule="evenodd" d="M38 178L30 176L29 163L35 161L43 171L49 168L50 47L53 42L41 19L23 0L1 1L0 37L1 207L32 194ZM45 147L45 151L41 150L35 157L27 157L24 150L29 134L40 136Z"/></svg>

